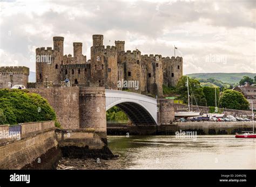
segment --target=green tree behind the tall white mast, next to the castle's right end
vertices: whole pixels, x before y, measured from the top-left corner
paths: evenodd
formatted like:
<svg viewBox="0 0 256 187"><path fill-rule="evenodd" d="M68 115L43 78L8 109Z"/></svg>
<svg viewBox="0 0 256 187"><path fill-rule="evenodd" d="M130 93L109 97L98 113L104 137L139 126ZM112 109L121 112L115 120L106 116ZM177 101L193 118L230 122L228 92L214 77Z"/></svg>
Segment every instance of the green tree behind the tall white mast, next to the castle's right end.
<svg viewBox="0 0 256 187"><path fill-rule="evenodd" d="M183 100L183 103L187 104L187 87L186 87L186 82L187 82L187 77L183 76L180 78L179 82L177 83L177 94L179 95L179 99ZM197 104L201 105L201 106L205 106L206 105L206 98L204 95L204 91L203 88L200 86L200 82L193 79L193 78L189 78L188 77L188 85L190 88L190 102L192 99L192 95L193 95L193 104ZM196 102L195 102L195 98L196 98Z"/></svg>

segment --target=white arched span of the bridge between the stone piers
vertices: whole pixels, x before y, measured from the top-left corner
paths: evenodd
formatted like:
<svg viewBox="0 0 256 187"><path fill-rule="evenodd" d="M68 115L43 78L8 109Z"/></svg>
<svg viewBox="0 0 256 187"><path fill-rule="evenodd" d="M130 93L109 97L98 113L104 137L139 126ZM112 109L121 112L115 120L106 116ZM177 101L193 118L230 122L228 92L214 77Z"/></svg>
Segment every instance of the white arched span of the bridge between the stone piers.
<svg viewBox="0 0 256 187"><path fill-rule="evenodd" d="M157 99L139 93L107 89L105 96L106 111L118 106L135 125L157 125Z"/></svg>

